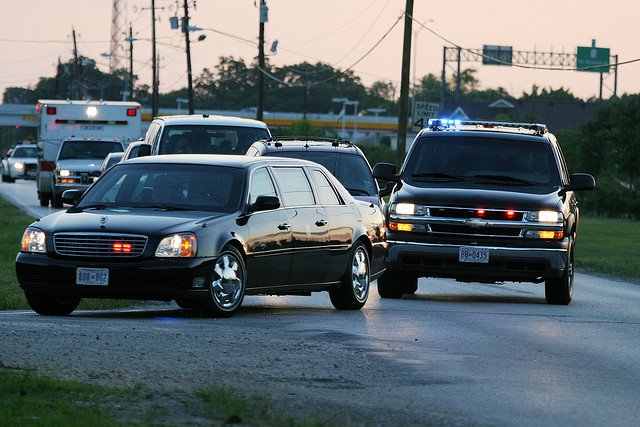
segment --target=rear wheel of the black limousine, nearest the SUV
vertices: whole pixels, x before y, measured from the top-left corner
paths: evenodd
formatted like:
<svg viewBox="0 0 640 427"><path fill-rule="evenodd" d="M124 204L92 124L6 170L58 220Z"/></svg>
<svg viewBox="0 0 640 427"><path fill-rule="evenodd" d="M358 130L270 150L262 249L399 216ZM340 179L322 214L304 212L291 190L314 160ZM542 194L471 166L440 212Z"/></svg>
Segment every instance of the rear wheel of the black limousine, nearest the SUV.
<svg viewBox="0 0 640 427"><path fill-rule="evenodd" d="M361 242L354 246L350 260L340 286L329 291L331 303L338 310L360 310L369 297L369 253Z"/></svg>

